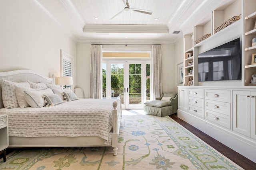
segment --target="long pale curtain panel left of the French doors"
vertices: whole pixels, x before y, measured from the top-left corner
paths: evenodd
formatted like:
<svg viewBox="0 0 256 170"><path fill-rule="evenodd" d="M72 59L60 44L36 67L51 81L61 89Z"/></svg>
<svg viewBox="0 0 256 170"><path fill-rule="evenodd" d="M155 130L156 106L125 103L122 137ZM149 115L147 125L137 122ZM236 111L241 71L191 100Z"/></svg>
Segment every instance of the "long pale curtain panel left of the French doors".
<svg viewBox="0 0 256 170"><path fill-rule="evenodd" d="M90 74L90 98L101 98L101 59L102 45L92 45L91 74Z"/></svg>

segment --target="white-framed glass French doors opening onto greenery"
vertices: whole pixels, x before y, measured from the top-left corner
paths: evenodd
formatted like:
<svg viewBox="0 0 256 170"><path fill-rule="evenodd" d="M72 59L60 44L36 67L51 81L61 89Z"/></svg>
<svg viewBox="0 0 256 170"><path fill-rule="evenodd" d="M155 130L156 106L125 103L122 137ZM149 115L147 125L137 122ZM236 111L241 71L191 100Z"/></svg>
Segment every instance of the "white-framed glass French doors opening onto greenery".
<svg viewBox="0 0 256 170"><path fill-rule="evenodd" d="M146 61L107 61L104 62L102 68L103 98L116 98L122 94L122 109L144 107L144 102L150 97L149 63ZM106 80L104 80L104 74L106 74Z"/></svg>

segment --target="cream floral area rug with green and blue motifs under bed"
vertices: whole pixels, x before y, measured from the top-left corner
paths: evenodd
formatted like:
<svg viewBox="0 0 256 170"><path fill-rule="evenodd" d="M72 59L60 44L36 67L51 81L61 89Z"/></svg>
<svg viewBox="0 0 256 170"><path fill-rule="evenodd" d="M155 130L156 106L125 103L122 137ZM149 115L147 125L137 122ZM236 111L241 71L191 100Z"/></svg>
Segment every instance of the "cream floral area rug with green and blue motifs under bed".
<svg viewBox="0 0 256 170"><path fill-rule="evenodd" d="M0 170L238 170L170 117L123 111L118 155L110 147L16 149Z"/></svg>

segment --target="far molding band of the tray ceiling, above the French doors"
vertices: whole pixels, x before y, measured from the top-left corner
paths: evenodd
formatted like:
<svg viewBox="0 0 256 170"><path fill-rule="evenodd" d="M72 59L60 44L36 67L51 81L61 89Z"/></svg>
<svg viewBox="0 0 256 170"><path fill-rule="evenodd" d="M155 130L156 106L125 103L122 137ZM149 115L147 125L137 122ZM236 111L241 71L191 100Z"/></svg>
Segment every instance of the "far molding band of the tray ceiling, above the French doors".
<svg viewBox="0 0 256 170"><path fill-rule="evenodd" d="M169 33L167 25L86 24L83 31L94 33Z"/></svg>

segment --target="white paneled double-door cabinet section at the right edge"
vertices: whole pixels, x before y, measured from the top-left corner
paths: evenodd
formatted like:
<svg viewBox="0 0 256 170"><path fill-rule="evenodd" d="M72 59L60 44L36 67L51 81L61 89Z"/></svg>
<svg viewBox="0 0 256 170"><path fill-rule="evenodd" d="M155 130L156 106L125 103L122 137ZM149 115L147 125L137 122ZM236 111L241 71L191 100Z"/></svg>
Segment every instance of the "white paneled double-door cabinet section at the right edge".
<svg viewBox="0 0 256 170"><path fill-rule="evenodd" d="M254 139L256 139L255 97L256 92L233 91L233 131Z"/></svg>

